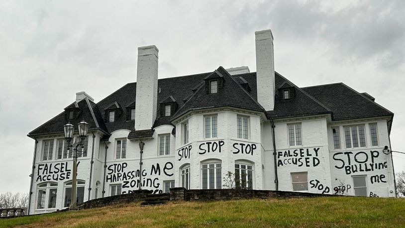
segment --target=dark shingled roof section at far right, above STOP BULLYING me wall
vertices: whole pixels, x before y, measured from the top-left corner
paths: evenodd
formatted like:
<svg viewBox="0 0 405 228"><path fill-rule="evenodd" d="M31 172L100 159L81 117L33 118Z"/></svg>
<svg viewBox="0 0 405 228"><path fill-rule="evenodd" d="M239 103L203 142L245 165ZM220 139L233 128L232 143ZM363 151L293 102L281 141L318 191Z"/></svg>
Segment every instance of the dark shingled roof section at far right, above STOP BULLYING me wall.
<svg viewBox="0 0 405 228"><path fill-rule="evenodd" d="M303 90L333 112L333 120L393 115L343 83L305 87Z"/></svg>

